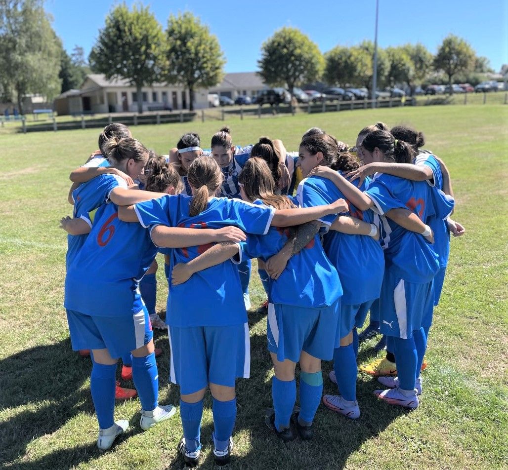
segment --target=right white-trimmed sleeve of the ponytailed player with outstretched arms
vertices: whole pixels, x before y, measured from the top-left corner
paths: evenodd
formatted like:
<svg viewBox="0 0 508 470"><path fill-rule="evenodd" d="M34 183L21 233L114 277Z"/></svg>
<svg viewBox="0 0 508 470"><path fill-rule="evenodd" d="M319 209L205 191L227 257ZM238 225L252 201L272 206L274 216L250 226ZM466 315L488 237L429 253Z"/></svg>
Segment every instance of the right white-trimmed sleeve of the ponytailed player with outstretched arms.
<svg viewBox="0 0 508 470"><path fill-rule="evenodd" d="M228 200L228 219L247 233L267 233L274 214L273 207L251 204L241 199Z"/></svg>

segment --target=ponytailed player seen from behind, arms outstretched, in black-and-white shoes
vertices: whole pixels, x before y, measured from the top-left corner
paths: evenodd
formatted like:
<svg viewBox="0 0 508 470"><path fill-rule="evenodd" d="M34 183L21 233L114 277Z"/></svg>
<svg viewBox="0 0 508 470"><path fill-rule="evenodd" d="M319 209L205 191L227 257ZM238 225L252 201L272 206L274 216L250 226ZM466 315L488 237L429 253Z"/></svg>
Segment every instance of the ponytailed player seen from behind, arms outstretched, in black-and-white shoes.
<svg viewBox="0 0 508 470"><path fill-rule="evenodd" d="M193 197L185 195L152 199L121 209L123 220L139 220L152 227L158 246L158 231L168 227L223 227L234 224L248 233L266 233L273 226L291 226L344 209L343 200L331 205L300 210L275 210L239 199L217 198L223 173L214 159L197 158L190 165L188 181ZM166 227L164 227L164 225ZM198 245L175 249L171 266L196 258L208 248ZM250 351L247 316L238 271L231 261L198 273L184 285L170 285L168 297L171 381L180 386L180 416L183 433L179 451L188 465L200 457L200 427L203 397L209 385L213 396L214 458L229 461L236 420L235 379L249 376ZM199 295L199 307L189 312L188 300Z"/></svg>

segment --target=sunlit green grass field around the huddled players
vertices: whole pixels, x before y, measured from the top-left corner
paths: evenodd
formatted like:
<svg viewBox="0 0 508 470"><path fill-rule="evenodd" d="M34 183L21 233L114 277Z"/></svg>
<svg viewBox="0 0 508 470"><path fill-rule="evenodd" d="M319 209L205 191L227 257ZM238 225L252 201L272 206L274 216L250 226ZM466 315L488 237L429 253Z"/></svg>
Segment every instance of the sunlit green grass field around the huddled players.
<svg viewBox="0 0 508 470"><path fill-rule="evenodd" d="M410 124L452 174L456 220L467 229L452 239L441 303L435 311L418 410L407 413L378 401L375 380L361 375L358 421L323 406L312 443L282 444L262 421L271 406L273 374L266 351L266 319L249 314L251 379L239 380L235 451L230 468L253 470L336 468L506 468L508 458L508 319L506 285L506 181L508 108L500 105L359 110L227 121L234 142L280 138L296 150L302 133L321 126L352 143L360 128L378 120ZM222 122L138 126L134 137L167 153L179 136L196 130L207 146ZM108 453L96 447L97 421L89 393L89 359L71 351L62 308L65 233L71 213L68 175L97 148L98 129L0 136L0 466L16 469L180 468L179 417L150 431L139 427L140 404L119 402L115 418L129 418L126 437ZM159 260L157 310L167 284ZM253 308L263 300L253 270ZM168 382L167 335L158 359L160 401L178 403ZM372 358L374 341L359 361ZM334 387L326 379L325 393ZM120 368L118 368L118 375ZM127 383L132 386L132 383ZM205 400L202 468L214 467L211 401Z"/></svg>

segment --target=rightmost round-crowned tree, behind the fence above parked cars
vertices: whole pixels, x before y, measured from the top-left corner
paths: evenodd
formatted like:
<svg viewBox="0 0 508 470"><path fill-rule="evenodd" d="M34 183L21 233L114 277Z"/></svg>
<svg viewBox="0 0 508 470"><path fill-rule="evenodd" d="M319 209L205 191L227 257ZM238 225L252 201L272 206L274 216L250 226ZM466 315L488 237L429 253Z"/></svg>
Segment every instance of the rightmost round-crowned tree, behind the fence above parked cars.
<svg viewBox="0 0 508 470"><path fill-rule="evenodd" d="M450 94L453 93L454 75L472 71L474 58L474 51L466 41L455 35L444 38L434 58L434 68L436 71L442 70L448 76Z"/></svg>

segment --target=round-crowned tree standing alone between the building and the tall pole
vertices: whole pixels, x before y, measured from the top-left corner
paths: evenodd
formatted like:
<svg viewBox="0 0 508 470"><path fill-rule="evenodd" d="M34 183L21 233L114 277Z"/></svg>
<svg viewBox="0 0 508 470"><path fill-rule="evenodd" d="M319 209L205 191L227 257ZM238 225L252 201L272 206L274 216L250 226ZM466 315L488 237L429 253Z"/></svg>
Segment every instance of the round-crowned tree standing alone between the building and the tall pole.
<svg viewBox="0 0 508 470"><path fill-rule="evenodd" d="M286 86L293 101L293 87L317 80L324 59L317 46L299 29L284 27L261 46L258 74L271 86Z"/></svg>

